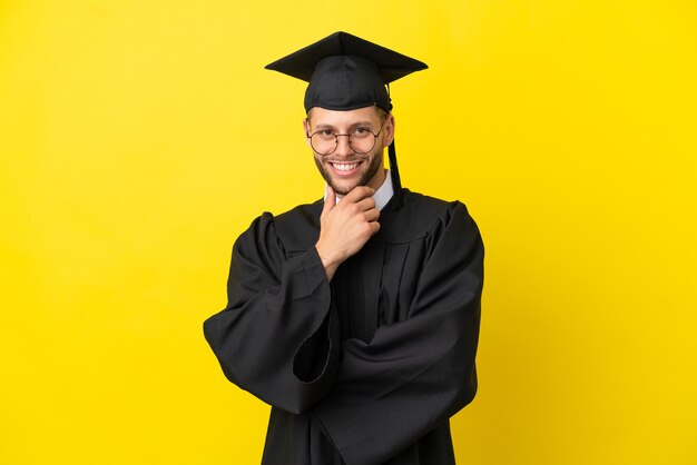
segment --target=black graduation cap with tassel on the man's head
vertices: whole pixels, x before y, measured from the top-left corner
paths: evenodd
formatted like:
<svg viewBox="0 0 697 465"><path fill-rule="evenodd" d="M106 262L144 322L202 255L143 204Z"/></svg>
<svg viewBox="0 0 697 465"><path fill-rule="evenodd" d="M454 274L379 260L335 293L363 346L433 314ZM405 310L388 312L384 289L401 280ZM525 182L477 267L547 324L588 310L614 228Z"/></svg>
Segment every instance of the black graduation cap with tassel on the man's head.
<svg viewBox="0 0 697 465"><path fill-rule="evenodd" d="M266 66L310 82L305 111L313 107L348 111L377 106L390 112L390 82L426 68L419 60L341 31ZM401 181L394 139L389 152L392 184L397 190Z"/></svg>

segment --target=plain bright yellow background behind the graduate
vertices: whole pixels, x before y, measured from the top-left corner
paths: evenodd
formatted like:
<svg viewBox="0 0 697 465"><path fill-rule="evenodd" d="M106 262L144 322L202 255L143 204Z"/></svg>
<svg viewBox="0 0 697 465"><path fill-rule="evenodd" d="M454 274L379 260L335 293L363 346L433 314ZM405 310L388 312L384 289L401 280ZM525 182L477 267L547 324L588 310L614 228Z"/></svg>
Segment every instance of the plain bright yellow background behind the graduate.
<svg viewBox="0 0 697 465"><path fill-rule="evenodd" d="M392 86L405 186L488 247L462 464L697 464L691 0L0 1L0 464L255 464L268 408L202 321L234 239L320 197L335 30Z"/></svg>

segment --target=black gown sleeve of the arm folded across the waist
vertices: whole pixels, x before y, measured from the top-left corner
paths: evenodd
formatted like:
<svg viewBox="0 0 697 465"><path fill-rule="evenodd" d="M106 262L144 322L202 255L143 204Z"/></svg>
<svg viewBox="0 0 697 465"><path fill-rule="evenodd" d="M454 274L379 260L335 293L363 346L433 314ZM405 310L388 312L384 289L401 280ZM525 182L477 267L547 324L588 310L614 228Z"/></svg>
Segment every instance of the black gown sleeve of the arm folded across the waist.
<svg viewBox="0 0 697 465"><path fill-rule="evenodd" d="M481 237L455 202L428 240L409 317L370 343L345 339L333 390L310 410L347 465L383 464L477 392Z"/></svg>

